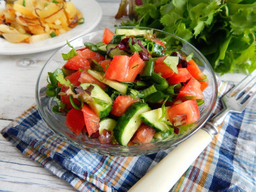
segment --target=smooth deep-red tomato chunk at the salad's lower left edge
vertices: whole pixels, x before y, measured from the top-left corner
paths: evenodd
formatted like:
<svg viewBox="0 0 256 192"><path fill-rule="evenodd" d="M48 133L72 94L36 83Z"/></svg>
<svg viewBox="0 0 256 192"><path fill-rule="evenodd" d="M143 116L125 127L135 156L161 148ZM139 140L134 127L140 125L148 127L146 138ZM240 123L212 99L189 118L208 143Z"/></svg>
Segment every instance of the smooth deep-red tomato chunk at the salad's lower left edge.
<svg viewBox="0 0 256 192"><path fill-rule="evenodd" d="M69 110L69 113L67 113L67 118L65 124L75 135L79 135L84 126L86 125L84 123L84 115L81 110L77 110L75 108L71 108Z"/></svg>

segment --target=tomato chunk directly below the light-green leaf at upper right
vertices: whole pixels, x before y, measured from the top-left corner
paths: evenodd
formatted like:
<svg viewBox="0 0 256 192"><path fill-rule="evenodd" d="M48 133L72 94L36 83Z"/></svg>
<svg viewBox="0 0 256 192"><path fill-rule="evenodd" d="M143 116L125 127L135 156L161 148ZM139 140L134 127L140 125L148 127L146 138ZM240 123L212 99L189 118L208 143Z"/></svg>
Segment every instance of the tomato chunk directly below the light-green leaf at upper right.
<svg viewBox="0 0 256 192"><path fill-rule="evenodd" d="M178 84L178 83L185 83L187 80L191 79L192 75L186 68L179 68L179 73L173 73L173 75L167 79L169 84Z"/></svg>

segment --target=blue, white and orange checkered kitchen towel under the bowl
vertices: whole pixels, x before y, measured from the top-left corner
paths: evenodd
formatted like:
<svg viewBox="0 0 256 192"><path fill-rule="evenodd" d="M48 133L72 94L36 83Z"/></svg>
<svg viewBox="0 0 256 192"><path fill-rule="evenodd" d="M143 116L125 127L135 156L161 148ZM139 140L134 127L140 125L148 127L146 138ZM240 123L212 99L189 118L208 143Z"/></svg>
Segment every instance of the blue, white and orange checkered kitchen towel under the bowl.
<svg viewBox="0 0 256 192"><path fill-rule="evenodd" d="M220 82L218 95L231 87ZM221 107L219 103L216 110ZM242 114L228 116L171 191L256 191L255 108L256 100ZM36 106L5 127L2 135L79 191L127 191L170 152L124 158L79 150L46 127Z"/></svg>

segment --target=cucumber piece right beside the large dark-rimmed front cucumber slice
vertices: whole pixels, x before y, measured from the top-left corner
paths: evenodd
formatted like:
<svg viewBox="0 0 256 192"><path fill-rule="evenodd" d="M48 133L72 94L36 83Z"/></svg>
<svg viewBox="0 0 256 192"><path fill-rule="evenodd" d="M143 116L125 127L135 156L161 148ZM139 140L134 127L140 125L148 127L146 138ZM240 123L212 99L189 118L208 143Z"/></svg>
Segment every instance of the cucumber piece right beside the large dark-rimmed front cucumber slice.
<svg viewBox="0 0 256 192"><path fill-rule="evenodd" d="M166 111L170 108L169 106L166 107ZM166 113L165 117L162 120L159 120L162 116L162 108L157 108L154 110L150 110L148 112L142 113L140 118L141 120L148 126L156 129L156 131L160 132L166 132L169 131L170 128L166 123L164 123L162 120L167 121L168 114Z"/></svg>

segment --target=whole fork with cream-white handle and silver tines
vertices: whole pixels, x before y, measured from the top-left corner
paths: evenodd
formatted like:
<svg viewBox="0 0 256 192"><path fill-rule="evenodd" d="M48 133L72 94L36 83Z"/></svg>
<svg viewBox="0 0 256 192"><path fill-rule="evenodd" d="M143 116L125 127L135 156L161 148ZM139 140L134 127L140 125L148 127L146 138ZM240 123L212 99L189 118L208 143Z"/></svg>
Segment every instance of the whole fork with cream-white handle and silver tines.
<svg viewBox="0 0 256 192"><path fill-rule="evenodd" d="M137 191L169 191L181 178L183 173L201 154L205 147L218 134L220 126L229 113L242 113L256 94L256 70L247 75L240 83L226 93L222 98L224 109L205 123L191 137L180 143L144 177L142 177L129 192Z"/></svg>

